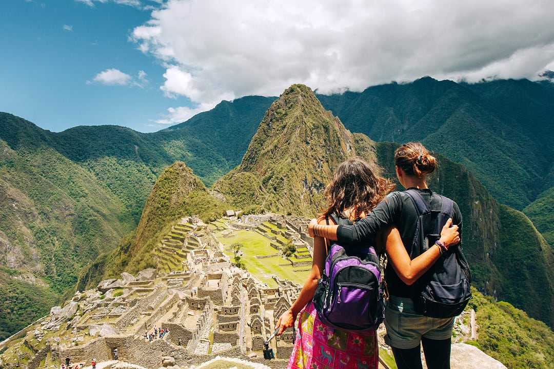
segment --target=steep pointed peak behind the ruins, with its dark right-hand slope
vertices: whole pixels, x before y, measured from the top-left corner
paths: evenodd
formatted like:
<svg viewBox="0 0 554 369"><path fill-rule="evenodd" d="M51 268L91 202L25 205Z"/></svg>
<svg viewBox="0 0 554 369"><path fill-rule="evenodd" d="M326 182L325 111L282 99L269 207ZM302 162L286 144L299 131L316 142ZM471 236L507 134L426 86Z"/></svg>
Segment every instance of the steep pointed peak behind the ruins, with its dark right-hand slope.
<svg viewBox="0 0 554 369"><path fill-rule="evenodd" d="M358 154L375 163L376 168L383 168L384 175L396 178L393 154L397 146L375 143L361 133L351 134L322 108L306 86L293 85L269 108L242 164L214 188L235 206L250 203L272 211L312 216L323 205L322 190L331 178L331 168ZM529 220L527 226L524 219L517 220L524 215L501 207L463 165L438 157L440 169L429 185L455 199L460 207L466 235L464 251L474 285L554 326L554 261L549 249L541 246ZM510 263L510 256L516 254L522 254L520 259L526 261L518 268ZM301 262L296 257L289 259ZM538 285L536 276L544 282Z"/></svg>

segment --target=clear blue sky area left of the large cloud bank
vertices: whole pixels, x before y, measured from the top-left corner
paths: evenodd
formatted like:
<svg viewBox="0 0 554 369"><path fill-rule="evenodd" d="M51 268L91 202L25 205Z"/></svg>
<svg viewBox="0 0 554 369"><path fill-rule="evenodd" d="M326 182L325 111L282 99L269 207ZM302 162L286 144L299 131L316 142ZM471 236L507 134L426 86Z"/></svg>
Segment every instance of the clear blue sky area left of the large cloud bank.
<svg viewBox="0 0 554 369"><path fill-rule="evenodd" d="M90 124L141 132L165 128L155 121L189 100L166 97L160 90L165 68L129 40L150 13L112 2L90 7L74 0L2 1L0 111L50 131ZM95 82L106 69L131 75L142 87ZM138 79L141 70L147 83Z"/></svg>

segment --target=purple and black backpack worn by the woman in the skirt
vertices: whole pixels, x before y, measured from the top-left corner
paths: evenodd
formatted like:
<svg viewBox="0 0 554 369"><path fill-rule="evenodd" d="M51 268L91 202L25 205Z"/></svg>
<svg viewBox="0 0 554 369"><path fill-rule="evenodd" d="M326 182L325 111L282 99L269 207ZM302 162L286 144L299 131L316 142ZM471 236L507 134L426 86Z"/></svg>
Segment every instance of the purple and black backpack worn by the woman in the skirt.
<svg viewBox="0 0 554 369"><path fill-rule="evenodd" d="M336 224L352 224L345 217L331 217ZM352 332L376 330L383 321L384 304L375 247L332 243L317 283L314 306L319 319L333 328Z"/></svg>

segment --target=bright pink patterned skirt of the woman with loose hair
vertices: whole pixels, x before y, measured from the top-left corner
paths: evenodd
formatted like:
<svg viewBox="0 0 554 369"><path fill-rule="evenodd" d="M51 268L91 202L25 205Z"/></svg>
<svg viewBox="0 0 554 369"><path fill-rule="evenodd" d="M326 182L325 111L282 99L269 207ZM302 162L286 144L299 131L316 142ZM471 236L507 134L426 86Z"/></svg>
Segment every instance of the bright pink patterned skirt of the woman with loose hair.
<svg viewBox="0 0 554 369"><path fill-rule="evenodd" d="M299 335L288 369L376 369L377 335L356 334L327 326L319 320L314 304L300 311Z"/></svg>

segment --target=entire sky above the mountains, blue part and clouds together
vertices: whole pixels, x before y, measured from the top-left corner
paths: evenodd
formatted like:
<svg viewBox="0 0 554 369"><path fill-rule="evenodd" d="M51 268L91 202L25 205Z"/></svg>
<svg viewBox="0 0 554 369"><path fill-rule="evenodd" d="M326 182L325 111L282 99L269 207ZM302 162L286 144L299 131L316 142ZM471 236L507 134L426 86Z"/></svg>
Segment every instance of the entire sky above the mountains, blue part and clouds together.
<svg viewBox="0 0 554 369"><path fill-rule="evenodd" d="M554 1L1 0L0 111L52 131L157 131L294 83L554 70Z"/></svg>

